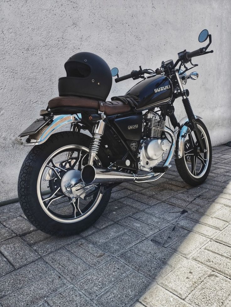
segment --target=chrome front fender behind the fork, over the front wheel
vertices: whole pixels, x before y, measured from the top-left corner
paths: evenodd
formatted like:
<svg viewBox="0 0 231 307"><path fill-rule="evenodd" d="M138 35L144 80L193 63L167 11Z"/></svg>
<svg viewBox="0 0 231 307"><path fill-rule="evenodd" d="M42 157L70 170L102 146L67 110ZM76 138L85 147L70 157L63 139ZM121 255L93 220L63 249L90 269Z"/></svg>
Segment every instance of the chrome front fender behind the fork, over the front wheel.
<svg viewBox="0 0 231 307"><path fill-rule="evenodd" d="M200 116L195 115L195 118L202 118ZM174 130L174 135L176 138L176 147L175 147L175 159L180 159L183 156L183 149L184 149L184 143L185 143L185 137L188 131L188 125L186 124L188 122L187 116L184 118L181 118L179 121L180 128L176 128Z"/></svg>

